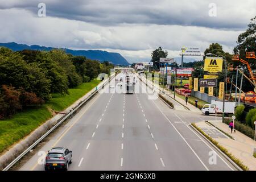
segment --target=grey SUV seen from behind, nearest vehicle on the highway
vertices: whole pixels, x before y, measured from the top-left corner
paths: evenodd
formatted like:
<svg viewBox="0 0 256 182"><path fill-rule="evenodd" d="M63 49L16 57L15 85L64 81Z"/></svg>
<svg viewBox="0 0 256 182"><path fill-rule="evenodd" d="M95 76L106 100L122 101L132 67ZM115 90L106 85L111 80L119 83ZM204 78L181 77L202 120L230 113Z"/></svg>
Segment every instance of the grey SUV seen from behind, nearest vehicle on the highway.
<svg viewBox="0 0 256 182"><path fill-rule="evenodd" d="M72 163L72 151L65 147L55 147L48 151L44 169L64 169L68 170L68 164Z"/></svg>

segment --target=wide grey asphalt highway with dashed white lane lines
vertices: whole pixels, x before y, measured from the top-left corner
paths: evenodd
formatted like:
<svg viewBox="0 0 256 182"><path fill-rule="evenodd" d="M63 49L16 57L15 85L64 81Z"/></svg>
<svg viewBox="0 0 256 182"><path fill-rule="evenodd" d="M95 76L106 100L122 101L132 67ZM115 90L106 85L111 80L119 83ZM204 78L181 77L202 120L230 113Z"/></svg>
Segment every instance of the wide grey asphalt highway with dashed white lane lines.
<svg viewBox="0 0 256 182"><path fill-rule="evenodd" d="M117 79L121 76L122 73L117 75ZM159 98L148 100L146 93L97 94L46 142L31 151L18 169L44 170L43 154L52 147L73 151L69 170L235 169L218 152L216 163L209 163L214 148L188 126L205 119L214 117L192 113L183 107L170 109Z"/></svg>

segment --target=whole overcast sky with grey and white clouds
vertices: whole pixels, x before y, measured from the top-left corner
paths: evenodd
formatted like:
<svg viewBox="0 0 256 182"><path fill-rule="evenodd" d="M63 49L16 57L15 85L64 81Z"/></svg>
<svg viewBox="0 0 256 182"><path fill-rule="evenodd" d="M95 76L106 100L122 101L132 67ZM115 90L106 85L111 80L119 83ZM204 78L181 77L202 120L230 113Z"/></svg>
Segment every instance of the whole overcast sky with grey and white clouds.
<svg viewBox="0 0 256 182"><path fill-rule="evenodd" d="M0 0L0 42L102 49L130 63L150 60L159 46L170 57L213 42L232 53L255 15L255 0Z"/></svg>

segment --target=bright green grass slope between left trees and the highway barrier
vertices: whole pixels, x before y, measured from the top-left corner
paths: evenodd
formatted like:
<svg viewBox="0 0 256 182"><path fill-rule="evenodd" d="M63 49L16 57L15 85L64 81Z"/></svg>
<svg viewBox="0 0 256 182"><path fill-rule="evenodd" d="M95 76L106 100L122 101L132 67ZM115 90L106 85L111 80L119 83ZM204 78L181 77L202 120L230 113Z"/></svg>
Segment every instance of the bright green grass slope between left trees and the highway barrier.
<svg viewBox="0 0 256 182"><path fill-rule="evenodd" d="M51 111L61 111L73 104L80 97L100 83L98 80L83 83L77 88L69 89L68 95L52 94L52 99L42 106L16 113L11 119L0 121L0 154L18 140L26 137L47 119L52 117Z"/></svg>

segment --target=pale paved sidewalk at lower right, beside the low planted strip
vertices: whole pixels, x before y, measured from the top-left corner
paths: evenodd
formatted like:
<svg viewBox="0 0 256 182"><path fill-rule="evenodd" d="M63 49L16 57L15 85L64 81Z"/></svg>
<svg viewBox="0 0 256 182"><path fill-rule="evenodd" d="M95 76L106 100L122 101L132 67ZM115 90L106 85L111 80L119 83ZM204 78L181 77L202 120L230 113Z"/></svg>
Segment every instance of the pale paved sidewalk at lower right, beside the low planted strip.
<svg viewBox="0 0 256 182"><path fill-rule="evenodd" d="M226 135L220 130L217 130L216 127L210 126L206 122L198 122L196 123L196 126L200 127L203 131L205 131L205 133L207 133L210 137L236 156L236 158L240 159L243 164L249 167L250 171L256 171L256 158L253 156L253 147L256 146L256 142L237 130L236 133L231 134L228 125L222 123L221 121L209 122L232 136L234 140L226 137Z"/></svg>

